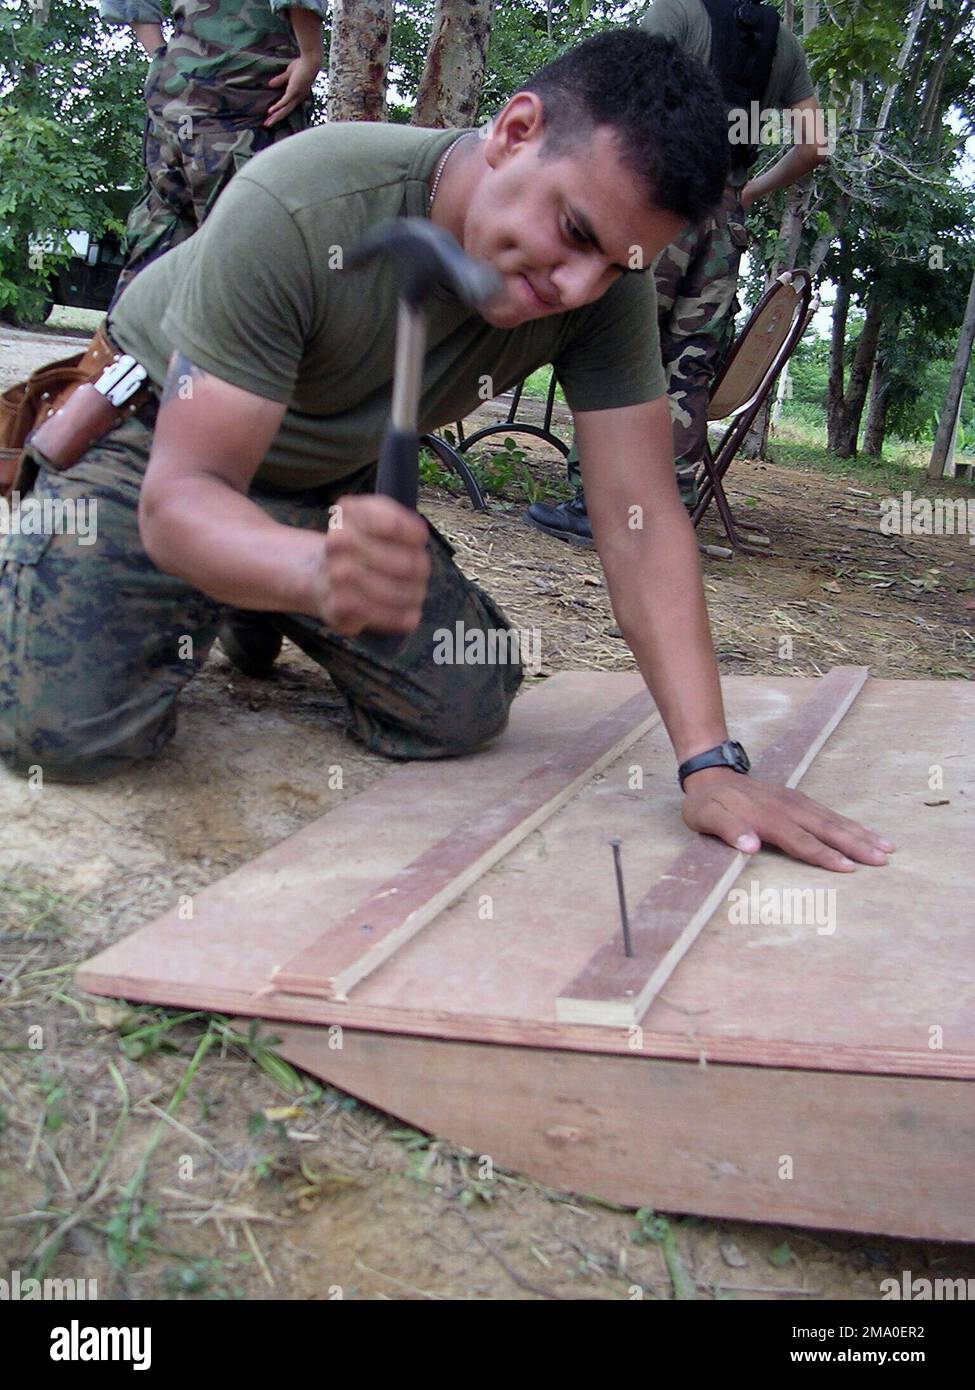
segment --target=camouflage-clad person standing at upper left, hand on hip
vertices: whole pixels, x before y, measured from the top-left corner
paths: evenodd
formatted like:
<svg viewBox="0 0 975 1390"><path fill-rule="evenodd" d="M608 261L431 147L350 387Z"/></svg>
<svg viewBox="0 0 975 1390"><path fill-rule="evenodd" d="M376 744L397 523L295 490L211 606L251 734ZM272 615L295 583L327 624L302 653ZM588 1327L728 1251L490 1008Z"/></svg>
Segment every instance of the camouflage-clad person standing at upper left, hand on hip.
<svg viewBox="0 0 975 1390"><path fill-rule="evenodd" d="M100 0L150 57L142 157L146 186L128 217L111 307L138 272L199 229L238 168L309 125L321 68L324 0Z"/></svg>

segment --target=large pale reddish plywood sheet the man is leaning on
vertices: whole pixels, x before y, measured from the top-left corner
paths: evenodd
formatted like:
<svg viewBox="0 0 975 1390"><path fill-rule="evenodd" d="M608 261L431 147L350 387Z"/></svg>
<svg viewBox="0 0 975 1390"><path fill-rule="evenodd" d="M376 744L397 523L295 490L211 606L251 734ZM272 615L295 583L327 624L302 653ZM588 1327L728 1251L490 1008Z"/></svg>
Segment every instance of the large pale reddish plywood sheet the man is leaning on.
<svg viewBox="0 0 975 1390"><path fill-rule="evenodd" d="M723 687L729 727L754 755L815 680L733 677ZM736 920L737 899L723 902L638 1029L559 1023L555 999L618 923L608 838L623 840L634 902L691 840L659 728L356 986L348 1004L267 988L273 967L362 901L377 873L421 853L474 798L497 798L638 688L636 676L554 677L516 702L494 749L392 771L200 894L192 922L174 912L103 952L82 969L82 986L391 1033L975 1077L975 691L967 682L868 681L803 790L889 834L900 845L890 866L836 876L762 851L736 885L755 895L758 910ZM937 794L933 764L944 773ZM925 806L936 799L949 805ZM762 915L764 901L808 890L825 930Z"/></svg>

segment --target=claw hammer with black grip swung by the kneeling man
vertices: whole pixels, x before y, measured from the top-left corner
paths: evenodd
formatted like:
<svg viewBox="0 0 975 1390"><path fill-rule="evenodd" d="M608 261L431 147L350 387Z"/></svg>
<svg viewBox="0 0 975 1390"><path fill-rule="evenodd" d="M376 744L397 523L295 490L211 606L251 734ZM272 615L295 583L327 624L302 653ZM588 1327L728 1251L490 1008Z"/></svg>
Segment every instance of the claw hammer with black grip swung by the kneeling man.
<svg viewBox="0 0 975 1390"><path fill-rule="evenodd" d="M448 231L423 217L395 217L374 227L349 252L346 264L355 270L376 256L392 257L399 277L392 414L382 438L376 491L416 507L417 416L427 350L424 302L437 285L444 285L462 303L480 309L501 291L502 279L491 265L466 256Z"/></svg>

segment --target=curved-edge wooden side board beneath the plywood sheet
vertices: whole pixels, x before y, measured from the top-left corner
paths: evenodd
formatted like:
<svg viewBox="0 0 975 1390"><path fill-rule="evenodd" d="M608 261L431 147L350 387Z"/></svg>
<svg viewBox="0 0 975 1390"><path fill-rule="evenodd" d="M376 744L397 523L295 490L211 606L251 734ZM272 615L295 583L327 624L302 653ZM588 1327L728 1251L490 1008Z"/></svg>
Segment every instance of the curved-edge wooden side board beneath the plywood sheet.
<svg viewBox="0 0 975 1390"><path fill-rule="evenodd" d="M712 1218L975 1240L972 1081L349 1029L335 1048L321 1029L273 1031L296 1066L551 1187Z"/></svg>

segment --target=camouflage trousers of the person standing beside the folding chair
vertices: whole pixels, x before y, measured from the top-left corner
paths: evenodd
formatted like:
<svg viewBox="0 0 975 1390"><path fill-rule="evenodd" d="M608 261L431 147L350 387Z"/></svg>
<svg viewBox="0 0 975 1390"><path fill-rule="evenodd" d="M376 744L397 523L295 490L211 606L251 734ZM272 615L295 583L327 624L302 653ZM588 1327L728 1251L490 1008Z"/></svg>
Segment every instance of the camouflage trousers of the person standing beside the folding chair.
<svg viewBox="0 0 975 1390"><path fill-rule="evenodd" d="M654 265L661 357L673 421L677 482L687 492L704 457L708 396L734 339L739 265L748 246L740 189L725 189L714 217L688 227ZM579 486L573 448L569 478Z"/></svg>

